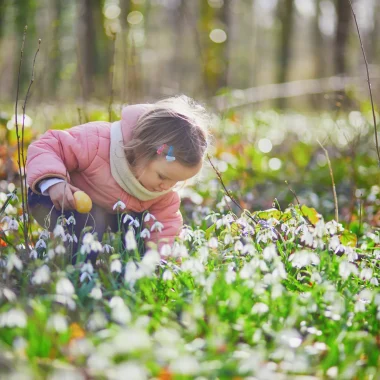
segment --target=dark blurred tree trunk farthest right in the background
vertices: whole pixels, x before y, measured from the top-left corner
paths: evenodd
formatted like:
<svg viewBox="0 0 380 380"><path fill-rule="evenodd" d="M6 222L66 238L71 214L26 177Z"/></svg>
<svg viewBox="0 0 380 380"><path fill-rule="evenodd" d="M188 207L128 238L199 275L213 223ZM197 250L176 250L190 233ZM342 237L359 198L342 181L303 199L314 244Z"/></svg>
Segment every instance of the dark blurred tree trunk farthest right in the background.
<svg viewBox="0 0 380 380"><path fill-rule="evenodd" d="M345 74L347 72L347 42L352 17L347 0L337 0L336 13L338 21L335 35L335 74Z"/></svg>

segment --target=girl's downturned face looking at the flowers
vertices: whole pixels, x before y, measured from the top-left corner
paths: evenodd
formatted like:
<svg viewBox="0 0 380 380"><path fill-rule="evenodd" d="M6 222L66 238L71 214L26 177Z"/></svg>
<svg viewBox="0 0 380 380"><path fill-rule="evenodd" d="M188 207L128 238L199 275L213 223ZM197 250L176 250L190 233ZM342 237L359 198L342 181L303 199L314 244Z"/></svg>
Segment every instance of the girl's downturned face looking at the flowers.
<svg viewBox="0 0 380 380"><path fill-rule="evenodd" d="M137 165L132 171L138 181L149 191L169 190L177 182L194 177L202 168L202 162L197 166L188 167L177 161L169 162L164 157L158 157L146 165Z"/></svg>

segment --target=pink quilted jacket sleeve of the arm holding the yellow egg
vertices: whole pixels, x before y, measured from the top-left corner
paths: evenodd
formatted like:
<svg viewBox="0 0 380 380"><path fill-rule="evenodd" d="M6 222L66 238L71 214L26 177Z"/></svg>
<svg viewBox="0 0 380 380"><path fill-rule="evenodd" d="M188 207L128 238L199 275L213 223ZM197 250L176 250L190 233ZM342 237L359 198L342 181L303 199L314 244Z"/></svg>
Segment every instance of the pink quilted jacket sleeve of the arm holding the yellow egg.
<svg viewBox="0 0 380 380"><path fill-rule="evenodd" d="M48 130L29 145L26 180L33 192L45 178L62 178L70 182L70 172L85 170L95 157L99 138L96 123L67 130Z"/></svg>

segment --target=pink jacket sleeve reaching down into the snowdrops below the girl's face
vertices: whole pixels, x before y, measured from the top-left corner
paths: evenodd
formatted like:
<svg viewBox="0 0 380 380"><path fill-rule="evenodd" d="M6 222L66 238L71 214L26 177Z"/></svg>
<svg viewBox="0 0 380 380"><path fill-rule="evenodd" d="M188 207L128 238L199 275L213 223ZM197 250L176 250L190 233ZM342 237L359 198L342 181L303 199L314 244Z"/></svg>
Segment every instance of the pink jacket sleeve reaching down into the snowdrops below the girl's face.
<svg viewBox="0 0 380 380"><path fill-rule="evenodd" d="M172 245L174 243L175 237L178 236L183 226L182 214L179 210L180 204L181 200L178 193L173 191L149 208L149 213L163 225L160 232L158 223L156 226L152 220L144 223L144 227L150 230L153 227L154 230L151 231L149 242L157 244L159 251L163 244Z"/></svg>

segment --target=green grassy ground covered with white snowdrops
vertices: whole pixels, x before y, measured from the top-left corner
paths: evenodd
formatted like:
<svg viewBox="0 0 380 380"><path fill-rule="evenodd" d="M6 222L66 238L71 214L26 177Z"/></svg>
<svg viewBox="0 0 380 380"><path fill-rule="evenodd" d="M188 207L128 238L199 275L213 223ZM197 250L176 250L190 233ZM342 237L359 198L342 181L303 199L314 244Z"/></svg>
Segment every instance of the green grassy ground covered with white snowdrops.
<svg viewBox="0 0 380 380"><path fill-rule="evenodd" d="M215 132L213 162L245 211L206 170L182 190L187 225L174 247L144 257L135 248L144 227L102 244L84 231L73 266L68 221L53 234L33 222L28 254L20 201L11 200L0 216L1 375L376 378L379 188L370 129L360 113L299 117L228 115ZM341 130L346 140L336 137ZM331 219L317 137L330 152L342 224ZM95 266L84 263L89 247L99 250Z"/></svg>

